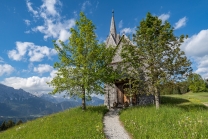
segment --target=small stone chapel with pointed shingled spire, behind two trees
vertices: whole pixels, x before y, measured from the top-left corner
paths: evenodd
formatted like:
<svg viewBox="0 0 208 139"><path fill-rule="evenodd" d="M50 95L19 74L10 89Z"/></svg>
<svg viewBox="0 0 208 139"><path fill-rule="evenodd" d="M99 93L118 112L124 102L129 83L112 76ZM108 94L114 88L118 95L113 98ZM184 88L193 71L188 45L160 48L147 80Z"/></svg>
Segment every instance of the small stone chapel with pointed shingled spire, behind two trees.
<svg viewBox="0 0 208 139"><path fill-rule="evenodd" d="M129 38L123 33L122 35L117 34L116 25L114 20L114 11L112 12L112 18L110 23L110 32L106 39L106 46L118 46L116 55L114 56L111 66L117 68L119 62L122 61L120 52L122 49L122 40L125 39L133 45ZM126 87L127 80L115 81L113 86L105 86L105 96L104 96L104 105L113 107L116 103L118 106L124 106L124 103L130 105L144 105L144 104L153 104L154 96L152 95L133 95L129 97L125 92L124 87Z"/></svg>

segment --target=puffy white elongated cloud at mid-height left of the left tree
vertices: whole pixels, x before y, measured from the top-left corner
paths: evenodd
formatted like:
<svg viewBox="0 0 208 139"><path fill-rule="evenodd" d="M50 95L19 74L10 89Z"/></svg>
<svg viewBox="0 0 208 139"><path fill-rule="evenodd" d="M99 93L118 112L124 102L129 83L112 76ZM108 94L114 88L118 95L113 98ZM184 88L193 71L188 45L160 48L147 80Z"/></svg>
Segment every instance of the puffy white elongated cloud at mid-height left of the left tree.
<svg viewBox="0 0 208 139"><path fill-rule="evenodd" d="M16 49L8 52L8 57L15 61L21 61L26 59L25 55L29 57L29 61L42 61L44 57L48 57L56 54L55 49L48 48L47 46L38 46L32 42L16 42Z"/></svg>

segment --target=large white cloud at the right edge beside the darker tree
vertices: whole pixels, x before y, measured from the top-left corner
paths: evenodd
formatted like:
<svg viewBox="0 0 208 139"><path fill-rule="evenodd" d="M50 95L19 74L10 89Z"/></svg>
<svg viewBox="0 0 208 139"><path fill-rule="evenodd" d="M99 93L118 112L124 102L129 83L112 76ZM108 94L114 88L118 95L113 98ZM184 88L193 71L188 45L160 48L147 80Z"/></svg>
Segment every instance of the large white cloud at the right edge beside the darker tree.
<svg viewBox="0 0 208 139"><path fill-rule="evenodd" d="M186 39L181 49L196 62L196 73L208 78L208 29Z"/></svg>

